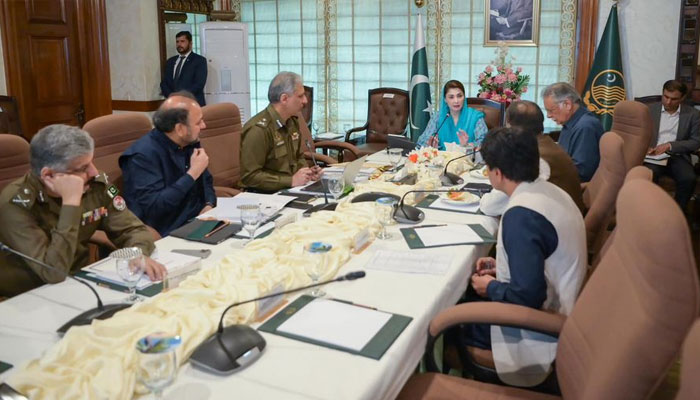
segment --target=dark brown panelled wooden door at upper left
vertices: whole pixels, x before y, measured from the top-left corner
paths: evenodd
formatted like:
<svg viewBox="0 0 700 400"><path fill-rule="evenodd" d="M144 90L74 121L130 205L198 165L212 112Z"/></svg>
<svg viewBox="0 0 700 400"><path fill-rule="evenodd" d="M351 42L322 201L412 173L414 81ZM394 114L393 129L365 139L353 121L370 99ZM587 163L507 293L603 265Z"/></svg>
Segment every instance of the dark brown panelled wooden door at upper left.
<svg viewBox="0 0 700 400"><path fill-rule="evenodd" d="M103 0L2 5L8 92L17 98L27 138L46 125L82 126L86 117L111 113Z"/></svg>

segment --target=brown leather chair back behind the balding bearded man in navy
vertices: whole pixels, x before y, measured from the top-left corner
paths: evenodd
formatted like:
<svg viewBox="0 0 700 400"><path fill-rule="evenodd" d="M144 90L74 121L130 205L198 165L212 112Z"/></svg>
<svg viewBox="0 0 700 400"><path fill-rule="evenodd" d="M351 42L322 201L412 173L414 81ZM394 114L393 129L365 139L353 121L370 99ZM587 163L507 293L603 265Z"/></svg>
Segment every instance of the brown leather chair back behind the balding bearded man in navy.
<svg viewBox="0 0 700 400"><path fill-rule="evenodd" d="M95 167L122 190L119 156L152 129L151 120L143 113L110 114L91 119L83 129L95 140Z"/></svg>

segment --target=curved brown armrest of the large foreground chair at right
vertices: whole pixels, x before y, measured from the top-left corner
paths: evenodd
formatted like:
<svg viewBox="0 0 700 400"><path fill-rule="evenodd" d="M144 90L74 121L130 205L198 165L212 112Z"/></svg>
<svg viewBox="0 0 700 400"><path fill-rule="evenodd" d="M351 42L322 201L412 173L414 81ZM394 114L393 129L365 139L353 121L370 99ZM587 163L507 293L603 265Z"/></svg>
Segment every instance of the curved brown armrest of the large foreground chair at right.
<svg viewBox="0 0 700 400"><path fill-rule="evenodd" d="M428 333L438 336L444 330L459 324L492 324L512 326L559 336L566 316L534 308L499 302L459 304L440 312L430 322Z"/></svg>

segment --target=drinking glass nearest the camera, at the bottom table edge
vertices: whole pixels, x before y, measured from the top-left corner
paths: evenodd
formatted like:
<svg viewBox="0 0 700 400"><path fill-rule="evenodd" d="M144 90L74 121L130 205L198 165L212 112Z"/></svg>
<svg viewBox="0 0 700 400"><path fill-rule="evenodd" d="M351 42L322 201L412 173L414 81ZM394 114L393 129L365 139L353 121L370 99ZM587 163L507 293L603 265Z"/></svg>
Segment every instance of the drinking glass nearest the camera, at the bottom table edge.
<svg viewBox="0 0 700 400"><path fill-rule="evenodd" d="M136 343L138 350L136 376L156 399L163 398L163 389L175 380L177 357L175 349L180 337L149 335Z"/></svg>

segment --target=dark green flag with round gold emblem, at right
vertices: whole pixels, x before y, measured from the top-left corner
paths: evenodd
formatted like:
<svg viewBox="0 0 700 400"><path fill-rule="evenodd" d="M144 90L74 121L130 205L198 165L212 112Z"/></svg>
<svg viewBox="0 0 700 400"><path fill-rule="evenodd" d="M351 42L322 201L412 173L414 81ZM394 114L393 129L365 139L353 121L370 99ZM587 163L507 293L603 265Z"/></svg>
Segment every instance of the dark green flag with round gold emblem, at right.
<svg viewBox="0 0 700 400"><path fill-rule="evenodd" d="M593 67L583 88L583 103L600 118L605 130L609 131L615 104L625 98L620 29L617 24L617 4L614 4L610 8L605 31L595 52Z"/></svg>

